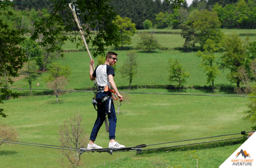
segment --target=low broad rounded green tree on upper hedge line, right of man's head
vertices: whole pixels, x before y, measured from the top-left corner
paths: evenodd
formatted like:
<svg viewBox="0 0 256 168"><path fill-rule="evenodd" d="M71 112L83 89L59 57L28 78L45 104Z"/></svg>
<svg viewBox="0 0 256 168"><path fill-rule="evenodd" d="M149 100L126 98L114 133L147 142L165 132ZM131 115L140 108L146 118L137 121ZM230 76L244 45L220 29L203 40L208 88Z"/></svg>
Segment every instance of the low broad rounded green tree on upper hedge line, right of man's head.
<svg viewBox="0 0 256 168"><path fill-rule="evenodd" d="M160 48L160 44L157 39L153 36L153 33L143 32L140 35L140 41L137 44L137 48L145 49L150 52L150 50Z"/></svg>

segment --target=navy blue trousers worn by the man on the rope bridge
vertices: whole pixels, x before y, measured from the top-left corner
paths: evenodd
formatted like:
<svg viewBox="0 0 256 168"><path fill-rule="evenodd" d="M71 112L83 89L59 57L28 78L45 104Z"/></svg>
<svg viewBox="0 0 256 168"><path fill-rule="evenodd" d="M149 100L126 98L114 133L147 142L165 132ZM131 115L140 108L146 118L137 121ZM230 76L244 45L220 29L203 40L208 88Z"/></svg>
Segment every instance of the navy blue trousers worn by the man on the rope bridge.
<svg viewBox="0 0 256 168"><path fill-rule="evenodd" d="M112 95L111 92L98 92L96 94L96 99L97 102L101 102L101 98L103 98L106 95ZM115 134L116 134L116 123L117 123L117 118L116 118L116 111L115 111L115 106L113 103L113 100L111 100L111 110L109 113L109 102L110 99L104 101L103 103L97 105L98 110L97 110L97 119L94 123L92 133L90 136L90 140L95 141L98 131L100 127L102 126L103 122L105 121L105 116L108 114L108 119L109 119L109 126L110 126L110 139L115 139Z"/></svg>

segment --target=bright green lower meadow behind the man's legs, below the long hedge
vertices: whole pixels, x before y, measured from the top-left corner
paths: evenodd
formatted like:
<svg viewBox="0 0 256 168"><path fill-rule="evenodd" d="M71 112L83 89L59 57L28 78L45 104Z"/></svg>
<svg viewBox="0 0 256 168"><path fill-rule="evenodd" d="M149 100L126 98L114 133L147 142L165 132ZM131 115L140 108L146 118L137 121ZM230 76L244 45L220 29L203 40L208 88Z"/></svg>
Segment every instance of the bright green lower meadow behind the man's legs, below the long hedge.
<svg viewBox="0 0 256 168"><path fill-rule="evenodd" d="M144 92L143 90L145 89L139 89L137 92ZM158 90L151 90L153 91L158 92ZM160 90L160 92L164 91ZM63 120L71 118L73 113L79 112L83 115L82 123L85 132L90 134L96 118L96 111L91 104L92 97L93 93L69 93L60 96L58 104L55 103L54 96L27 96L8 100L3 105L8 118L0 118L0 122L14 126L19 132L20 141L59 145L58 126L63 123ZM250 129L250 124L242 120L242 113L246 109L248 98L141 94L125 94L125 97L129 97L130 101L121 106L120 115L117 116L116 140L126 146L239 133ZM208 139L204 139L200 142L207 141ZM103 147L108 146L108 136L104 128L99 131L96 143ZM184 143L171 144L171 146L182 144ZM154 146L154 148L169 145ZM219 152L224 153L221 150ZM60 157L58 153L56 149L3 145L1 146L1 160L3 158L5 161L1 161L1 165L3 167L10 165L11 167L26 167L29 163L31 167L49 165L60 167L57 162ZM93 166L112 161L117 157L126 158L134 154L84 153L82 156L85 157L87 165ZM222 158L223 161L228 156L229 153L226 153ZM172 164L178 163L172 162ZM212 167L219 166L218 164L219 162Z"/></svg>

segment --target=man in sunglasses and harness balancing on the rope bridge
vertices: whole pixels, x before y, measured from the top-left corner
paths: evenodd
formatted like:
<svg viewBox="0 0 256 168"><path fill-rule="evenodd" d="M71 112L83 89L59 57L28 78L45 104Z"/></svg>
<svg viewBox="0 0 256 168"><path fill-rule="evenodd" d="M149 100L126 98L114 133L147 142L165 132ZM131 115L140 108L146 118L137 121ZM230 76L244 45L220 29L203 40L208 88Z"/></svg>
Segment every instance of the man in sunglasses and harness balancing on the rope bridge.
<svg viewBox="0 0 256 168"><path fill-rule="evenodd" d="M117 53L115 52L108 52L106 54L105 63L96 67L93 71L93 63L94 60L90 61L90 78L91 80L97 81L97 86L99 91L96 94L96 100L98 103L97 107L97 119L95 121L94 127L92 129L92 133L90 136L90 143L87 146L87 149L101 149L102 147L96 145L94 143L98 131L102 126L105 115L108 114L109 119L109 133L110 133L110 143L109 148L125 148L125 146L120 145L115 141L115 132L116 132L116 112L113 103L113 99L111 98L112 93L108 91L108 87L111 88L116 92L117 96L119 97L119 101L123 101L123 96L117 90L116 84L114 82L113 77L115 76L115 72L111 65L115 65L117 62ZM108 86L108 87L107 87ZM103 100L103 101L102 101Z"/></svg>

